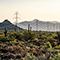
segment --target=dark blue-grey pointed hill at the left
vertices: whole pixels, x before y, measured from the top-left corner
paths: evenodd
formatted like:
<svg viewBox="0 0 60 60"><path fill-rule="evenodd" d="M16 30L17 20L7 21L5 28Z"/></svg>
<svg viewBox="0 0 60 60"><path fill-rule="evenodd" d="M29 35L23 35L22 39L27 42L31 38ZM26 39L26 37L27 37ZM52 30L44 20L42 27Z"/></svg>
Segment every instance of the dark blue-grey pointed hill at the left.
<svg viewBox="0 0 60 60"><path fill-rule="evenodd" d="M5 27L7 28L7 30L15 30L15 28L18 30L23 30L22 28L12 24L10 21L8 21L7 19L4 20L2 23L0 23L0 30L4 30Z"/></svg>

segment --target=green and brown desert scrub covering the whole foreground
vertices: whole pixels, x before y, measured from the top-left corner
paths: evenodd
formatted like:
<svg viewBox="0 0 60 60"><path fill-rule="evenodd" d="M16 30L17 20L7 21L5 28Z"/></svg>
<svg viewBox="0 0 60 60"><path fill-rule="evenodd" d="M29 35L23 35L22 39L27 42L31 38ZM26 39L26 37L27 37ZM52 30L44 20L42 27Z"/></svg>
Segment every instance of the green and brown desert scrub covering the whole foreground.
<svg viewBox="0 0 60 60"><path fill-rule="evenodd" d="M60 60L60 32L0 31L0 60Z"/></svg>

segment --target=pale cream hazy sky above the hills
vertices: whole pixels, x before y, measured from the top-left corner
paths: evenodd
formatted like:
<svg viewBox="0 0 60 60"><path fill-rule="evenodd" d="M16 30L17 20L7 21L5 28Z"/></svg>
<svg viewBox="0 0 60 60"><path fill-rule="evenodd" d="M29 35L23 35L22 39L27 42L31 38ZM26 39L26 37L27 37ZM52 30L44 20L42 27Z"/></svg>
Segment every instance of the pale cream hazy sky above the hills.
<svg viewBox="0 0 60 60"><path fill-rule="evenodd" d="M20 13L19 22L33 19L60 22L60 0L0 0L0 21L15 22L16 11Z"/></svg>

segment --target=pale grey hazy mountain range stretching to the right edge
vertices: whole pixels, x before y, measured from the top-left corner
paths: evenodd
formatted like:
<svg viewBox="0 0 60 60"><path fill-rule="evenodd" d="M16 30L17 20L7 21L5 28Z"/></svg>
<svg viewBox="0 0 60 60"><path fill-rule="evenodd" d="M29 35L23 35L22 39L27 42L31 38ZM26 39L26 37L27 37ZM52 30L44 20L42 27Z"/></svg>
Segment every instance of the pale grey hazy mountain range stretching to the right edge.
<svg viewBox="0 0 60 60"><path fill-rule="evenodd" d="M38 26L37 26L37 22L38 22ZM38 19L34 19L32 21L20 22L20 23L18 23L18 26L23 29L28 29L28 24L31 25L32 30L60 31L60 23L56 22L56 21L44 22L44 21L40 21Z"/></svg>

